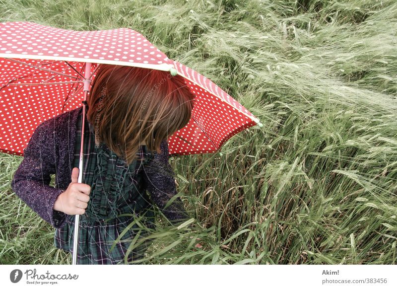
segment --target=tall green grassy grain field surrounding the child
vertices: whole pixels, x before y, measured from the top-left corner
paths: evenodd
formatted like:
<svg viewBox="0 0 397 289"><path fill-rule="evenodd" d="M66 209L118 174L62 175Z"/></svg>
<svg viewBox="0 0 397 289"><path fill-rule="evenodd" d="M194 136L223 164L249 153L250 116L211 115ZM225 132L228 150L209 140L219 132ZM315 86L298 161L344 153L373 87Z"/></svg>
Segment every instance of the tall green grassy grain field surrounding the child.
<svg viewBox="0 0 397 289"><path fill-rule="evenodd" d="M177 229L159 217L145 264L396 263L394 0L0 5L1 22L135 29L264 123L222 156L172 158L196 220ZM21 159L0 154L0 263L70 264L11 191Z"/></svg>

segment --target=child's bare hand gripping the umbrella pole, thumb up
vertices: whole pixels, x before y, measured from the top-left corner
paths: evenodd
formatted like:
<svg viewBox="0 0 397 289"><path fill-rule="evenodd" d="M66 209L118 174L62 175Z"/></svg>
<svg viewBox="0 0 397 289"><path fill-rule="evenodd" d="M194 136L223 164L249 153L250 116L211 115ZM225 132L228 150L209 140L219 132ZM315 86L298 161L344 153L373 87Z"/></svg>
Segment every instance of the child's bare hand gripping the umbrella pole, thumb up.
<svg viewBox="0 0 397 289"><path fill-rule="evenodd" d="M67 215L82 215L88 207L91 186L78 183L78 167L71 172L71 183L66 191L61 193L54 204L54 210L64 212Z"/></svg>

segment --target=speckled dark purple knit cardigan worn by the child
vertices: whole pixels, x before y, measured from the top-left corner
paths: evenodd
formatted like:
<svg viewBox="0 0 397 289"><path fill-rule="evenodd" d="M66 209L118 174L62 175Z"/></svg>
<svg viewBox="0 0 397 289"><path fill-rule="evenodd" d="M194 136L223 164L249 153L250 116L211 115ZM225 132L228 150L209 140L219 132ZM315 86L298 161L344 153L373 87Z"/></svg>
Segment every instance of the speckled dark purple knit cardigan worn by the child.
<svg viewBox="0 0 397 289"><path fill-rule="evenodd" d="M71 182L74 162L77 117L82 107L64 112L41 123L33 132L23 153L23 160L15 171L11 188L33 211L55 228L61 228L66 214L55 211L57 197L67 189ZM168 162L168 144L160 145L161 154L154 151L150 166L143 170L145 186L153 202L173 224L186 220L189 216L180 198L176 198L164 209L166 203L176 195L175 173ZM161 169L164 167L172 175ZM50 186L51 175L55 174L55 187Z"/></svg>

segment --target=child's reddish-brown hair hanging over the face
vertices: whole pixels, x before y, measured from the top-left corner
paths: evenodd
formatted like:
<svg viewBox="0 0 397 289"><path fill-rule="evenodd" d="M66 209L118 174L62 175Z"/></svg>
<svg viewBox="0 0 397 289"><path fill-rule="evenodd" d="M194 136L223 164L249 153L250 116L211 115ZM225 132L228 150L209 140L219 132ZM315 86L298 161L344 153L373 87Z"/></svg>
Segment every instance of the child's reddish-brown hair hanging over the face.
<svg viewBox="0 0 397 289"><path fill-rule="evenodd" d="M161 153L160 143L188 124L194 97L180 75L100 64L87 96L87 120L96 144L131 164L143 142Z"/></svg>

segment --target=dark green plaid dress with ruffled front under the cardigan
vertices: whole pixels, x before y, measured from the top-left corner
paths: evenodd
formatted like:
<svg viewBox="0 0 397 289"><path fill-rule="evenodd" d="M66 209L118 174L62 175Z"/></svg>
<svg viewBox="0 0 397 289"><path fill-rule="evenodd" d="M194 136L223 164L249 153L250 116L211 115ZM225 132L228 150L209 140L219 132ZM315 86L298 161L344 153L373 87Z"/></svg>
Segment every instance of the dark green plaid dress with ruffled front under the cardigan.
<svg viewBox="0 0 397 289"><path fill-rule="evenodd" d="M82 114L77 121L73 167L79 166L81 117ZM88 207L80 215L77 264L124 264L126 255L128 262L139 260L150 239L145 238L147 230L138 223L153 228L155 216L148 196L140 190L143 178L139 171L153 155L141 145L138 160L128 166L105 144L95 145L94 129L88 121L84 131L82 182L91 186L91 193ZM57 248L72 252L74 219L74 215L66 215L64 227L56 230ZM115 242L123 231L120 241ZM144 242L128 250L134 237L144 238ZM115 246L111 249L112 245Z"/></svg>

